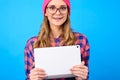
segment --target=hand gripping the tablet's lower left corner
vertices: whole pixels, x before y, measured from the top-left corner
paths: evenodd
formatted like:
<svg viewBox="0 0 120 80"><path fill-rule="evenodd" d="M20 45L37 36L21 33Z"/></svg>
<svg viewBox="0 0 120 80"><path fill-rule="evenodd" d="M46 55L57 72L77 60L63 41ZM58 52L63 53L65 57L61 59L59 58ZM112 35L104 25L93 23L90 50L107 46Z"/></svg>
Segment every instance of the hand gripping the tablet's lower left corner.
<svg viewBox="0 0 120 80"><path fill-rule="evenodd" d="M34 68L30 71L30 80L42 80L47 77L43 69Z"/></svg>

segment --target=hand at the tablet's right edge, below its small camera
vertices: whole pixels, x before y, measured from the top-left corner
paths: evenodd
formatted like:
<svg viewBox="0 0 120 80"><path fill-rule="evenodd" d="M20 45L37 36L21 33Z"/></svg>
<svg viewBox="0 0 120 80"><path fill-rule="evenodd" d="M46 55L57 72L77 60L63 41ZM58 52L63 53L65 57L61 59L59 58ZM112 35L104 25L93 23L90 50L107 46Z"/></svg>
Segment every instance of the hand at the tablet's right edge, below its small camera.
<svg viewBox="0 0 120 80"><path fill-rule="evenodd" d="M81 64L75 65L71 68L73 75L77 76L77 80L87 79L88 67L84 65L85 62L82 61Z"/></svg>

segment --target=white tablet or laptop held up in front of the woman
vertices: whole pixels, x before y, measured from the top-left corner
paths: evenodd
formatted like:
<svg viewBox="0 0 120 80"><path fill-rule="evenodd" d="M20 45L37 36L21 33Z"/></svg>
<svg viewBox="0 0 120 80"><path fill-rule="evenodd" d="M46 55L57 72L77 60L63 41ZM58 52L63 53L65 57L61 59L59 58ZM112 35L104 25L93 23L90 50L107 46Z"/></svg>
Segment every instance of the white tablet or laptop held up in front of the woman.
<svg viewBox="0 0 120 80"><path fill-rule="evenodd" d="M74 77L70 69L81 63L80 46L35 48L35 68L42 68L47 79Z"/></svg>

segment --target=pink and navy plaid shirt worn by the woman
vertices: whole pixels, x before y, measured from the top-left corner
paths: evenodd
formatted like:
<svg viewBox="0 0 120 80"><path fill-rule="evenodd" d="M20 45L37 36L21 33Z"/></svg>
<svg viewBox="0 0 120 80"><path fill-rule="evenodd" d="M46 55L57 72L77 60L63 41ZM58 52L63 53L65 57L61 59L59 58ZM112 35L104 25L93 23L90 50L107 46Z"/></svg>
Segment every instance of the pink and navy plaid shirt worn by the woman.
<svg viewBox="0 0 120 80"><path fill-rule="evenodd" d="M75 33L74 35L76 36L77 40L75 42L75 45L80 45L80 51L81 51L81 59L82 61L85 61L85 65L88 66L88 61L89 61L89 52L90 52L90 46L88 43L87 38L80 33ZM61 38L53 38L51 39L51 47L54 46L60 46L60 41ZM33 67L33 62L34 62L34 52L33 52L33 44L34 42L37 41L37 37L32 37L27 41L27 44L24 49L24 59L25 59L25 70L26 70L26 80L29 79L29 74L30 70ZM60 78L60 79L51 79L51 80L75 80L75 78ZM86 79L88 80L88 79Z"/></svg>

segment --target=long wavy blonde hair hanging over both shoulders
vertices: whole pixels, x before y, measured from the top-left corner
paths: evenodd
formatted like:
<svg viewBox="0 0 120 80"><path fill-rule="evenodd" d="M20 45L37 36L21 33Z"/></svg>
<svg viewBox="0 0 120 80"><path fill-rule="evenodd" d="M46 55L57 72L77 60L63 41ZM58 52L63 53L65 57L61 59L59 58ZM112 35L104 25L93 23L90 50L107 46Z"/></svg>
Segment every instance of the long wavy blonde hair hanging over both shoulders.
<svg viewBox="0 0 120 80"><path fill-rule="evenodd" d="M70 28L70 17L68 15L67 20L63 24L62 28L62 41L60 42L60 45L74 45L76 41L76 37L74 33L72 32L72 29ZM33 44L34 48L39 48L39 47L50 47L51 42L50 42L50 25L47 17L44 17L41 30L38 34L38 39L37 41Z"/></svg>

